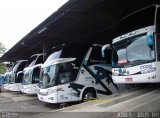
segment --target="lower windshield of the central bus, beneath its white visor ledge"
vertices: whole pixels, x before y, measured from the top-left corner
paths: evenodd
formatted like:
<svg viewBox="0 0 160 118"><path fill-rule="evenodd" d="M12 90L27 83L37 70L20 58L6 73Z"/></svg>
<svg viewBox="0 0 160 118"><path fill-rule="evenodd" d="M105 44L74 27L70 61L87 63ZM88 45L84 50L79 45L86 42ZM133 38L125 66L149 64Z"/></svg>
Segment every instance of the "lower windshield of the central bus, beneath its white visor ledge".
<svg viewBox="0 0 160 118"><path fill-rule="evenodd" d="M42 68L39 87L49 88L74 81L77 70L73 69L72 63L74 63L74 61Z"/></svg>

